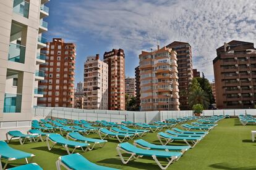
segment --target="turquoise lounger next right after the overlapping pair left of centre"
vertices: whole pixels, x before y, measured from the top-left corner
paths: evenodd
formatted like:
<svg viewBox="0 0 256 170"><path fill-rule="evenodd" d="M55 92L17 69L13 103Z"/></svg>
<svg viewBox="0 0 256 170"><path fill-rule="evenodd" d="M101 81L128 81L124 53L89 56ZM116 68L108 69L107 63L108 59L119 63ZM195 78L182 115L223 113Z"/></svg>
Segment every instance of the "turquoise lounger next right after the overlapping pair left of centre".
<svg viewBox="0 0 256 170"><path fill-rule="evenodd" d="M109 139L116 138L119 142L123 142L124 140L130 139L133 136L132 134L111 132L106 128L100 129L100 131L98 131L98 133L102 140L105 139L106 137L108 137ZM104 135L104 136L102 136L102 135ZM120 139L121 137L123 138L122 140Z"/></svg>

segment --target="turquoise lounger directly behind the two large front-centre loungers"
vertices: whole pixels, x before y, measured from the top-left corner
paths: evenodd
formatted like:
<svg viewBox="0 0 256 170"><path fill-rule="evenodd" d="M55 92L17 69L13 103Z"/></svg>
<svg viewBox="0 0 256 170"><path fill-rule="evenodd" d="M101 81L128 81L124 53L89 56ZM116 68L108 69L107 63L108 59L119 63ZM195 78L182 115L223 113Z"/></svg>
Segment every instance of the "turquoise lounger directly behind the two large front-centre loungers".
<svg viewBox="0 0 256 170"><path fill-rule="evenodd" d="M195 145L200 142L200 140L202 139L202 137L177 137L177 136L172 136L169 134L166 134L164 132L159 132L157 134L158 139L160 140L162 145L167 145L169 142L173 142L174 140L178 140L178 141L184 141L187 145L189 145L190 147L195 147ZM191 142L192 144L189 144L189 142Z"/></svg>

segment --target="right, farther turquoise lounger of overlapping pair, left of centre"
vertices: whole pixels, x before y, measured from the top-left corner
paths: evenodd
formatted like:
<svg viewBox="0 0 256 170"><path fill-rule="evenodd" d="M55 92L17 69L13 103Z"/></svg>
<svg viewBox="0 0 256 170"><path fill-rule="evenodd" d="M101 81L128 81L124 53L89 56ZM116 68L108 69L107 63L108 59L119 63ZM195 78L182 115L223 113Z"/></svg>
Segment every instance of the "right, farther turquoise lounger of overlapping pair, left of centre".
<svg viewBox="0 0 256 170"><path fill-rule="evenodd" d="M108 140L101 140L101 139L93 139L93 138L84 137L81 134L79 134L78 132L68 133L66 137L67 137L67 139L70 138L72 140L78 140L80 142L93 143L92 147L88 147L88 150L93 150L95 145L99 145L102 148L102 147L104 147L106 142L108 142Z"/></svg>

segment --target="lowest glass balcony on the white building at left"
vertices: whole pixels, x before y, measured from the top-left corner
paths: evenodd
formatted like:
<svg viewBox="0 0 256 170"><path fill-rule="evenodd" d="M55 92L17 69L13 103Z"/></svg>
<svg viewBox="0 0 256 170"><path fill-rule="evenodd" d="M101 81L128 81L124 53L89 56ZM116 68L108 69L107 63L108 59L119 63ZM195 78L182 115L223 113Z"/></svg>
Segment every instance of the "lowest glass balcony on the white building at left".
<svg viewBox="0 0 256 170"><path fill-rule="evenodd" d="M22 94L4 94L4 113L20 113Z"/></svg>

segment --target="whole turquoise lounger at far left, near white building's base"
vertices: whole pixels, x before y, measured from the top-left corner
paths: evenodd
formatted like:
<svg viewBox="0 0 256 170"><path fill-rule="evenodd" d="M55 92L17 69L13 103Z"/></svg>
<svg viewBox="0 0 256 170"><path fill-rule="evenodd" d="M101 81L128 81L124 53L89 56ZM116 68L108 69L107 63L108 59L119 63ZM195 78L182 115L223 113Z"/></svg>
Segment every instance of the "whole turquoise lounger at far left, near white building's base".
<svg viewBox="0 0 256 170"><path fill-rule="evenodd" d="M11 139L9 139L9 136L11 137ZM11 142L11 140L13 138L19 138L20 144L23 145L27 139L29 139L30 142L32 142L32 140L37 142L38 139L39 139L39 135L23 134L20 131L9 131L9 132L6 133L6 141L7 141L7 143ZM36 138L38 138L38 139L36 139Z"/></svg>

